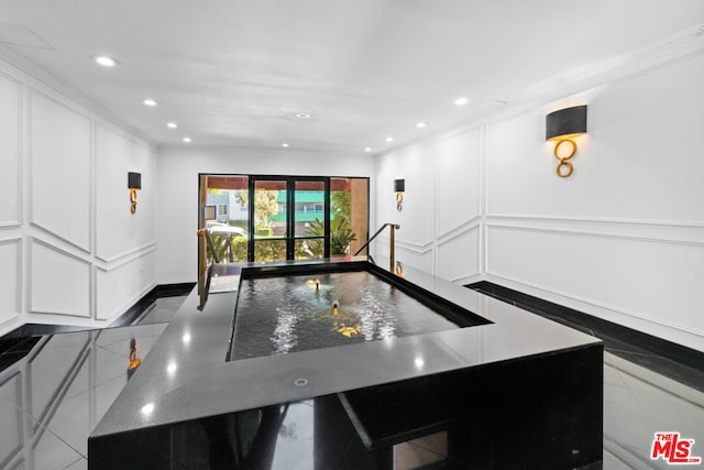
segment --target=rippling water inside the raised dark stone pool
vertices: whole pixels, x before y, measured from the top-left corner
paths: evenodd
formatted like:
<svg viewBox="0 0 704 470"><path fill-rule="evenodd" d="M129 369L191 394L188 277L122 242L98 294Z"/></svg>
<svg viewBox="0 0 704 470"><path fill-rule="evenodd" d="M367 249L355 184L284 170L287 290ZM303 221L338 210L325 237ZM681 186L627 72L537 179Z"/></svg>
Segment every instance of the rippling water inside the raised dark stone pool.
<svg viewBox="0 0 704 470"><path fill-rule="evenodd" d="M230 360L454 328L367 271L243 278Z"/></svg>

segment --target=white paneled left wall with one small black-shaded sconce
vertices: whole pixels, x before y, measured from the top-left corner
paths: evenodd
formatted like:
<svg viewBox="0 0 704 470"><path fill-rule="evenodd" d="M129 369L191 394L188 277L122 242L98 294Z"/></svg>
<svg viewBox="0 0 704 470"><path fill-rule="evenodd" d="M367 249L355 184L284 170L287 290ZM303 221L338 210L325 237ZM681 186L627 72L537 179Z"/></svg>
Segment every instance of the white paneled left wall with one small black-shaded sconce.
<svg viewBox="0 0 704 470"><path fill-rule="evenodd" d="M105 326L155 285L154 149L40 76L0 58L0 335Z"/></svg>

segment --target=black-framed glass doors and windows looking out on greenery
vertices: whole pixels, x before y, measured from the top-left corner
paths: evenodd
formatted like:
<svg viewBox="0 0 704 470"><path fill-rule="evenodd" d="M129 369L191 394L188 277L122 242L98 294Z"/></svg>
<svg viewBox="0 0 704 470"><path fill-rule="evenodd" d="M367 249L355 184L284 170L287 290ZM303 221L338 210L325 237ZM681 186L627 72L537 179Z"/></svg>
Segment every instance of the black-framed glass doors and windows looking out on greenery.
<svg viewBox="0 0 704 470"><path fill-rule="evenodd" d="M345 256L367 221L369 178L200 175L199 263Z"/></svg>

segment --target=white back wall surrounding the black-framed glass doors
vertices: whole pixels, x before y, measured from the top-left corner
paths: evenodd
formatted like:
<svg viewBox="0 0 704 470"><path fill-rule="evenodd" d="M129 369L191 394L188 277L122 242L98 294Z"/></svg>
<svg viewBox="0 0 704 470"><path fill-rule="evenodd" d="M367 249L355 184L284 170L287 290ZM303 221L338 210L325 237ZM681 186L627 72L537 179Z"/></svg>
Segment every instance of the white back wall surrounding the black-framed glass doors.
<svg viewBox="0 0 704 470"><path fill-rule="evenodd" d="M328 155L289 149L165 147L158 152L156 253L158 284L195 282L198 275L198 174L373 177L364 153ZM374 187L370 184L371 199ZM374 208L370 208L371 227Z"/></svg>

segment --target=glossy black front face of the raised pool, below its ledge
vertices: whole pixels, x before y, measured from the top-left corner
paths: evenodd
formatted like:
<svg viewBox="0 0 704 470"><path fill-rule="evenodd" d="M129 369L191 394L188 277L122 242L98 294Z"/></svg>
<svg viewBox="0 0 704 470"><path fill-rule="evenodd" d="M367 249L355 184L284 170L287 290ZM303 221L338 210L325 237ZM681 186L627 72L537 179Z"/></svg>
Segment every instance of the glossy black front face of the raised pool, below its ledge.
<svg viewBox="0 0 704 470"><path fill-rule="evenodd" d="M91 440L91 468L392 469L409 450L395 445L428 446L438 433L444 445L429 450L443 468L580 467L602 453L601 359L587 347L141 428ZM520 394L501 386L506 376Z"/></svg>

